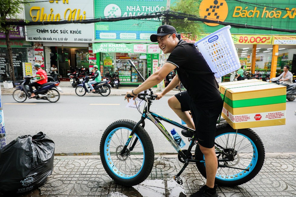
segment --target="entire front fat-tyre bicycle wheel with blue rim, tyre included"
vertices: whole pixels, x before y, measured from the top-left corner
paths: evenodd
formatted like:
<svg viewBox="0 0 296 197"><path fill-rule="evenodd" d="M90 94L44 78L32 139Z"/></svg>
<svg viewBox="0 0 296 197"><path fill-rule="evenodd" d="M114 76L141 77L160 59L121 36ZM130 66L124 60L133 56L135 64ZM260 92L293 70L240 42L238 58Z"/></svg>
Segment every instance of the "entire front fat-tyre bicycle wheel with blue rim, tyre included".
<svg viewBox="0 0 296 197"><path fill-rule="evenodd" d="M154 162L153 144L143 127L139 126L129 138L135 125L131 120L117 120L108 126L100 142L100 157L106 172L124 186L135 186L146 180ZM127 150L121 155L127 140Z"/></svg>

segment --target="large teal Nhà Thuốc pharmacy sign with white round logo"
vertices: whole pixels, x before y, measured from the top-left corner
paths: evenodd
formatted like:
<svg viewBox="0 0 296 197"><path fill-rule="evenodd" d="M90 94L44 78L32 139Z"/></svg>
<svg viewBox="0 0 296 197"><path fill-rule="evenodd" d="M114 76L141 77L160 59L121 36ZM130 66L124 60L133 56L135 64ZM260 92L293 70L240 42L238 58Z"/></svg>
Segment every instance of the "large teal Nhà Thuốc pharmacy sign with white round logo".
<svg viewBox="0 0 296 197"><path fill-rule="evenodd" d="M130 17L165 11L166 0L94 0L95 18ZM95 23L95 40L150 42L162 21L158 18Z"/></svg>

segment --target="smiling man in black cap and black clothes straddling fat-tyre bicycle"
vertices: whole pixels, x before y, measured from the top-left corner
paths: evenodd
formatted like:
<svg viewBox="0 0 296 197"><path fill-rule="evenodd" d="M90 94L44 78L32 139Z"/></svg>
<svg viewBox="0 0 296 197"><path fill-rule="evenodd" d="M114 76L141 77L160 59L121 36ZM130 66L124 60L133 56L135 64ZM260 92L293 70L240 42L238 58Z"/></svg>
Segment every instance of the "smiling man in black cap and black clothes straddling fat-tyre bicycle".
<svg viewBox="0 0 296 197"><path fill-rule="evenodd" d="M168 103L172 110L187 124L195 129L200 150L205 157L207 181L206 185L192 194L191 197L217 197L217 186L214 184L218 162L214 149L217 119L222 111L223 100L218 90L214 73L211 71L201 53L191 43L180 39L180 34L170 25L158 27L157 34L152 34L150 40L158 42L164 54L170 53L166 63L159 71L150 75L146 81L127 94L137 97L141 91L159 84L172 70L177 70L177 75L169 85L157 93L160 99L167 92L176 87L180 81L186 88L175 96L169 98ZM201 84L196 89L195 84ZM127 98L127 94L125 98ZM128 100L129 98L127 98ZM129 101L129 100L128 100ZM187 111L191 110L192 118ZM185 131L186 132L186 131ZM182 134L188 134L183 133ZM193 133L188 134L188 136Z"/></svg>

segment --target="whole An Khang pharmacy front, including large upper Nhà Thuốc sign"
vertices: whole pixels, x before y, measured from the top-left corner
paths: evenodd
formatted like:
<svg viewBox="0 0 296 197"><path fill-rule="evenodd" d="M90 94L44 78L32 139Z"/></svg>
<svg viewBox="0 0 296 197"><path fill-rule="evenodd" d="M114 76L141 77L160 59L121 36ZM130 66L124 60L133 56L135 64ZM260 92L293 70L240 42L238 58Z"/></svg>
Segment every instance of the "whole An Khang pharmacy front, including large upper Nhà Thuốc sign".
<svg viewBox="0 0 296 197"><path fill-rule="evenodd" d="M166 1L117 1L94 0L95 18L138 16L164 11ZM143 81L128 59L132 59L146 79L160 65L158 45L150 42L150 35L161 25L158 18L95 23L93 52L101 57L101 73L118 71L122 84L137 85Z"/></svg>

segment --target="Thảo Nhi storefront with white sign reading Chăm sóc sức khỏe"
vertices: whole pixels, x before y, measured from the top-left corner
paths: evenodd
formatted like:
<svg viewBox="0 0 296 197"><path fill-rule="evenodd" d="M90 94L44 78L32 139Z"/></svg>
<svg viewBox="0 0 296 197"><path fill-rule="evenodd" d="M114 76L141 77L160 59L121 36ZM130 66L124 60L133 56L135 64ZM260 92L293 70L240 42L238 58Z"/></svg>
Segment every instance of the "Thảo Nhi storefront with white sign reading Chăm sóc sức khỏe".
<svg viewBox="0 0 296 197"><path fill-rule="evenodd" d="M24 10L28 21L76 21L93 18L93 1L36 0L34 5L25 5ZM26 40L39 46L35 60L48 70L56 65L64 78L68 78L68 70L90 68L97 63L92 53L93 24L26 26Z"/></svg>

